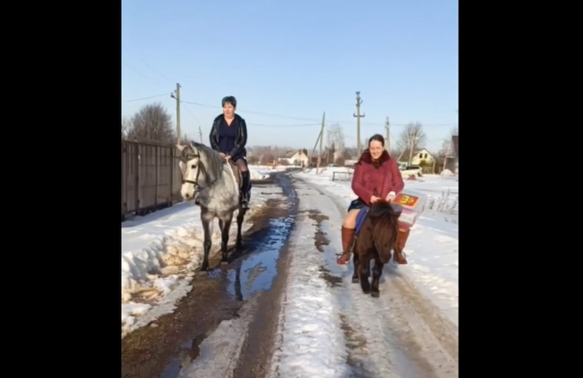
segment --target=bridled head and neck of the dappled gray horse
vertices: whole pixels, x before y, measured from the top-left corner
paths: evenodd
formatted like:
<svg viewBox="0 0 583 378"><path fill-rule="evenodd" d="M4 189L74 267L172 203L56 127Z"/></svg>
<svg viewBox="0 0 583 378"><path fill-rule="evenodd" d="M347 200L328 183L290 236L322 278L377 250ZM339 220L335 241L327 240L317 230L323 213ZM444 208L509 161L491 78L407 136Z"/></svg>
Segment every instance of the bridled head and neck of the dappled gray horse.
<svg viewBox="0 0 583 378"><path fill-rule="evenodd" d="M186 146L177 144L180 150L182 188L185 200L194 199L195 193L213 185L222 175L223 159L220 154L202 143L190 142Z"/></svg>

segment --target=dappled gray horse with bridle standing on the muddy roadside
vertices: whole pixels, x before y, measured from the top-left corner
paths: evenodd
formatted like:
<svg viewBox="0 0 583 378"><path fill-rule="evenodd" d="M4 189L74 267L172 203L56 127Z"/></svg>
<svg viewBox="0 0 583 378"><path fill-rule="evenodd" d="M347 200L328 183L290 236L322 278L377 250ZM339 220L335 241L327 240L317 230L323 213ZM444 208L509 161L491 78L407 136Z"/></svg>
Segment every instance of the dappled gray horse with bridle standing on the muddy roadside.
<svg viewBox="0 0 583 378"><path fill-rule="evenodd" d="M237 248L241 248L241 227L245 218L240 206L241 174L237 165L227 164L219 153L202 143L191 142L188 146L177 146L181 151L180 169L182 189L185 200L198 196L201 206L201 220L205 241L201 271L209 269L209 253L212 245L213 220L219 219L221 231L221 264L229 263L227 243L233 214L237 214Z"/></svg>

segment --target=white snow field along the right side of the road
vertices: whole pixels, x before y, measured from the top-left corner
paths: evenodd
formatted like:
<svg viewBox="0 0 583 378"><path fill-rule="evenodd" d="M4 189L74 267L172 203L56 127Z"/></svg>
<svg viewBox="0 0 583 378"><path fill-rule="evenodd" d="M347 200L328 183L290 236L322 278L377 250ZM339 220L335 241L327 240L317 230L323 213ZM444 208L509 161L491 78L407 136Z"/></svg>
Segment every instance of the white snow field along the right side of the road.
<svg viewBox="0 0 583 378"><path fill-rule="evenodd" d="M332 172L349 168L325 168L319 175L315 169L296 176L326 190L348 204L356 198L350 181L332 181ZM399 266L419 290L433 301L442 313L458 324L459 308L459 182L456 177L424 175L415 181L405 181L406 190L426 194L426 209L411 229L405 253L409 260Z"/></svg>

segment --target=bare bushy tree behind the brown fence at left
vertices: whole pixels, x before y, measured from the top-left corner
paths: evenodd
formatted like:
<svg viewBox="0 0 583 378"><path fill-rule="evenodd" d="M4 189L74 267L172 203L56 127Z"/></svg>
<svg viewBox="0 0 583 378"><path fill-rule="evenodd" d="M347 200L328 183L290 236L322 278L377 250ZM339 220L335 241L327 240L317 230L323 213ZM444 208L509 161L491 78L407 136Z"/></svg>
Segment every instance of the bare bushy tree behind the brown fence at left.
<svg viewBox="0 0 583 378"><path fill-rule="evenodd" d="M170 144L175 140L172 118L160 103L142 107L128 130L128 139L138 142Z"/></svg>

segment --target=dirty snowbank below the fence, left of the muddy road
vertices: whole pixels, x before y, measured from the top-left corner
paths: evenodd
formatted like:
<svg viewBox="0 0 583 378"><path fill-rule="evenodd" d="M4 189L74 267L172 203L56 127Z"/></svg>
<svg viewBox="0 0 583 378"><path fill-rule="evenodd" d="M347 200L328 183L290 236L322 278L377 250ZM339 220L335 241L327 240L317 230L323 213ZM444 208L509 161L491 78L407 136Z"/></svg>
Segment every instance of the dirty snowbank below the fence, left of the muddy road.
<svg viewBox="0 0 583 378"><path fill-rule="evenodd" d="M253 196L247 220L265 201ZM251 227L243 225L243 231ZM236 240L236 222L230 242ZM202 262L203 232L198 206L184 202L121 224L122 335L174 310L187 294L192 271ZM220 248L218 221L213 227L213 249Z"/></svg>

